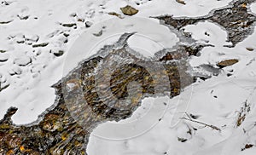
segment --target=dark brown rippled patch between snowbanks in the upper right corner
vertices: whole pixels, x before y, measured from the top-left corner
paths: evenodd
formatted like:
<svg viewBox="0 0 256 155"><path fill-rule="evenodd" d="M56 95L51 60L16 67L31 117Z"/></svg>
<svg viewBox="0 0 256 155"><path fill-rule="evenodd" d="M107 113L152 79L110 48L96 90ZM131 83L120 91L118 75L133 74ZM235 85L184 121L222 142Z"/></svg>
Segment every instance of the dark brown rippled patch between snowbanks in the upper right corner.
<svg viewBox="0 0 256 155"><path fill-rule="evenodd" d="M227 41L232 43L230 47L234 47L254 31L256 16L247 10L247 6L253 2L255 0L234 1L224 9L215 9L210 14L197 18L176 18L172 17L172 15L154 18L163 20L166 25L173 26L179 31L184 26L195 25L198 22L209 20L225 29L228 33Z"/></svg>

